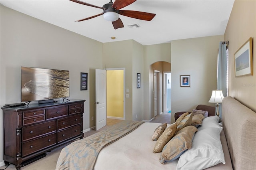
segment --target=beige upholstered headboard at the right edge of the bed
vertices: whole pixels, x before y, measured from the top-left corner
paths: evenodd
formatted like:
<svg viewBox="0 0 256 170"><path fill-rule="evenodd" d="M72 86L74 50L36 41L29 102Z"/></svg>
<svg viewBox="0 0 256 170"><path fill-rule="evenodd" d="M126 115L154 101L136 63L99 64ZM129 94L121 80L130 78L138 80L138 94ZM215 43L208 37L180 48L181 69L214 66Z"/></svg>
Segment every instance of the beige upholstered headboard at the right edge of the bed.
<svg viewBox="0 0 256 170"><path fill-rule="evenodd" d="M233 97L222 101L222 126L235 170L256 168L256 113Z"/></svg>

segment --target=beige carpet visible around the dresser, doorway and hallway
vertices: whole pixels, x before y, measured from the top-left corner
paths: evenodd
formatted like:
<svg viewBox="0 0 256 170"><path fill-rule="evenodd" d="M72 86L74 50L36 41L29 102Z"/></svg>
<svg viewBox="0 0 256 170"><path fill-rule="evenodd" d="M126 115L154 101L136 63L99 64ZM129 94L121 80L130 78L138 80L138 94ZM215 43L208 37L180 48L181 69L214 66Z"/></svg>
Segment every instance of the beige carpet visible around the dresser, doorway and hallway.
<svg viewBox="0 0 256 170"><path fill-rule="evenodd" d="M166 115L166 114L168 114L168 115ZM169 114L169 113L164 113L162 115L158 115L151 122L154 122L154 123L165 123L165 122L167 122L168 123L171 120L170 115L171 114ZM120 121L121 120L108 119L107 125L105 127L101 128L98 131L104 130L104 129L108 128L109 126L114 125L114 124L116 124ZM94 133L96 133L95 130L90 130L90 131L84 133L84 137L90 136ZM40 160L37 160L37 161L35 161L31 164L28 164L28 165L22 167L21 169L22 170L55 170L57 160L58 160L58 157L60 155L60 151L66 145L55 148L54 150L51 150L51 152L47 152L46 157L41 158ZM0 167L0 169L4 169L4 168L6 168L6 166L1 166ZM16 170L16 168L13 164L10 164L10 166L8 168L6 168L6 170Z"/></svg>

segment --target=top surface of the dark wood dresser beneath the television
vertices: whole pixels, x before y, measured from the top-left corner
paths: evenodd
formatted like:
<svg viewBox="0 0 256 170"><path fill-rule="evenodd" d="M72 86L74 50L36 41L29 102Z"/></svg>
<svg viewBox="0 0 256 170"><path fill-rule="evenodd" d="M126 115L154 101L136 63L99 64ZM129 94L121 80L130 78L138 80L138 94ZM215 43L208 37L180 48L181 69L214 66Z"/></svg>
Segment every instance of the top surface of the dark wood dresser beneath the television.
<svg viewBox="0 0 256 170"><path fill-rule="evenodd" d="M50 107L50 106L57 106L57 105L68 105L68 104L72 104L72 103L77 103L77 102L85 102L85 100L82 99L69 99L69 101L61 101L58 100L58 102L53 102L53 103L30 103L28 105L25 106L18 106L18 107L1 107L1 109L4 110L10 110L10 111L22 111L25 109L36 109L36 108L40 108L40 107Z"/></svg>

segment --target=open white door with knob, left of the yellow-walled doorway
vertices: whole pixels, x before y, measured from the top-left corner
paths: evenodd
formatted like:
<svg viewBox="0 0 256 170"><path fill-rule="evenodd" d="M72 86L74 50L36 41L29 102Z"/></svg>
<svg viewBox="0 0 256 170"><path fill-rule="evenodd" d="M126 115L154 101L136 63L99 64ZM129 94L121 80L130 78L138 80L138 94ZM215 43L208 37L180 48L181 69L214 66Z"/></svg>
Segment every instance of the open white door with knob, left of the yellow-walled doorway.
<svg viewBox="0 0 256 170"><path fill-rule="evenodd" d="M106 108L106 70L95 70L95 91L96 91L96 130L107 125Z"/></svg>

